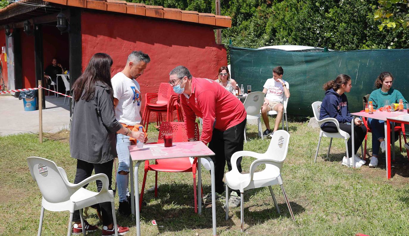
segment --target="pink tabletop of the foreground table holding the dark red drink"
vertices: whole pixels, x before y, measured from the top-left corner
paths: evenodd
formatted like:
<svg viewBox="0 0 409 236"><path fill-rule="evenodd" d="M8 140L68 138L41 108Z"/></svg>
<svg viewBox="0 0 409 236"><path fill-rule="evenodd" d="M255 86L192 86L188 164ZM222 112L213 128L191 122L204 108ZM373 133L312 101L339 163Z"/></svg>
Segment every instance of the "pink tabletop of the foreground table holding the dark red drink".
<svg viewBox="0 0 409 236"><path fill-rule="evenodd" d="M146 144L142 148L130 145L128 148L133 161L214 155L214 152L201 141L173 143L172 147L164 147L163 143L157 143Z"/></svg>

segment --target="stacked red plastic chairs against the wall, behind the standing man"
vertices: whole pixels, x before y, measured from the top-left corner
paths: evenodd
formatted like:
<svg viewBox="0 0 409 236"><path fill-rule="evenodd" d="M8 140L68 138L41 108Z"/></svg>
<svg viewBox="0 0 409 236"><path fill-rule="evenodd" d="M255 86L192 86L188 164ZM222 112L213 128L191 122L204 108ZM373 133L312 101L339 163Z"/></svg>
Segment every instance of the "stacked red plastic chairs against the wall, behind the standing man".
<svg viewBox="0 0 409 236"><path fill-rule="evenodd" d="M145 129L148 130L149 125L149 117L151 112L156 113L156 124L161 125L162 123L162 112L166 113L169 116L169 113L172 114L174 110L178 112L178 121L180 120L181 113L180 106L178 105L179 102L175 102L178 100L179 95L173 91L173 88L168 83L160 83L158 93L146 93L145 94L145 109L144 109L144 117L143 120L145 122ZM152 100L156 99L156 103ZM167 121L170 120L169 117Z"/></svg>

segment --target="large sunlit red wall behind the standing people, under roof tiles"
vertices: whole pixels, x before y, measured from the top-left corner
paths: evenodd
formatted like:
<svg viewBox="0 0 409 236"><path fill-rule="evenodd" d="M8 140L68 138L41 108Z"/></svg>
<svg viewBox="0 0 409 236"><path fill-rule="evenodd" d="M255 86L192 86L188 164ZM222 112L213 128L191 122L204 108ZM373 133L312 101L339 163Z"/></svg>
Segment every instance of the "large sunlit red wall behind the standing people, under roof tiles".
<svg viewBox="0 0 409 236"><path fill-rule="evenodd" d="M227 66L226 49L216 44L211 27L84 11L81 31L83 70L97 52L112 57L112 76L124 68L134 50L151 57L138 79L142 94L157 92L159 84L168 82L169 72L179 65L186 66L195 77L211 79L220 66Z"/></svg>

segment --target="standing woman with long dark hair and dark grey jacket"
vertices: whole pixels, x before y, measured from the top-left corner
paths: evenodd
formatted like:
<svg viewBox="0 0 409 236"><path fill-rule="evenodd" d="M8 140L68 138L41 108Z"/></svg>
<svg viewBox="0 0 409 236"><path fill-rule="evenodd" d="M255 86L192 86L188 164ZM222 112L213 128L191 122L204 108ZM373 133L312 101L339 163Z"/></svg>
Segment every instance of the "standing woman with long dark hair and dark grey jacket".
<svg viewBox="0 0 409 236"><path fill-rule="evenodd" d="M92 56L84 73L72 86L72 123L70 132L71 157L77 159L74 184L92 174L103 173L112 183L112 166L117 156L115 133L121 133L144 141L144 134L130 131L116 119L111 84L112 59L108 54L96 53ZM85 188L86 186L84 186ZM97 181L98 191L102 182ZM115 235L110 202L99 204L102 213L102 235ZM73 234L82 234L79 211L74 212ZM85 223L86 231L95 231L97 226ZM129 231L128 227L118 225L119 235Z"/></svg>

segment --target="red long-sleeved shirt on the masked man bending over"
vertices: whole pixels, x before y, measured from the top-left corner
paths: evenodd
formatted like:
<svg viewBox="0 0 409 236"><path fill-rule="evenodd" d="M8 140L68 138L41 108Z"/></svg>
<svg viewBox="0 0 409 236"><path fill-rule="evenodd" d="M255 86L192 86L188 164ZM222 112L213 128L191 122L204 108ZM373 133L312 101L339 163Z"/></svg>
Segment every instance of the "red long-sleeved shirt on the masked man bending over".
<svg viewBox="0 0 409 236"><path fill-rule="evenodd" d="M247 118L243 103L217 82L192 77L191 90L189 99L180 96L188 138L195 137L196 116L203 119L200 141L205 144L211 140L213 124L215 129L225 131Z"/></svg>

